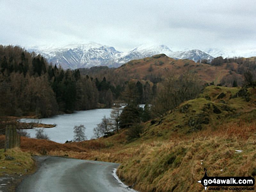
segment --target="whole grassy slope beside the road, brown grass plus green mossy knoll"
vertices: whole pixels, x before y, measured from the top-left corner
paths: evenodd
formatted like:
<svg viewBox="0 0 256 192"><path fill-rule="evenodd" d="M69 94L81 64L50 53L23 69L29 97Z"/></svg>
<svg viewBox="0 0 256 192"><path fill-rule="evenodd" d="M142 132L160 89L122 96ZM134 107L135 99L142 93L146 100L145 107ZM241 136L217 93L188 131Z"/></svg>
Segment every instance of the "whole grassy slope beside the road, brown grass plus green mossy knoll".
<svg viewBox="0 0 256 192"><path fill-rule="evenodd" d="M256 175L255 89L250 89L250 102L229 99L237 91L239 88L208 87L201 98L184 103L195 112L181 113L181 104L159 125L146 123L137 140L126 141L126 130L121 130L109 138L70 144L22 138L21 148L39 154L44 150L49 155L121 163L119 177L129 185L136 183L135 189L141 192L203 192L197 181L203 177L204 168L210 176ZM212 107L205 110L207 103L224 106L217 99L222 92L226 105L235 110L222 110L221 114L213 113ZM208 114L210 123L201 131L188 131L188 119L202 112Z"/></svg>

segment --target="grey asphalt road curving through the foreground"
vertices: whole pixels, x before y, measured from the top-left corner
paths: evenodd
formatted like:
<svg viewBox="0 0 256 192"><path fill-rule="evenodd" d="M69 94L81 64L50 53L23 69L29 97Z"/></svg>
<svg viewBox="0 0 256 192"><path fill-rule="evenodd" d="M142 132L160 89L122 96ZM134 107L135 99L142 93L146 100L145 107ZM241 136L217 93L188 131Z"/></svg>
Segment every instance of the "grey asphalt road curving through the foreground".
<svg viewBox="0 0 256 192"><path fill-rule="evenodd" d="M41 167L17 192L131 192L114 178L119 164L61 157L39 157Z"/></svg>

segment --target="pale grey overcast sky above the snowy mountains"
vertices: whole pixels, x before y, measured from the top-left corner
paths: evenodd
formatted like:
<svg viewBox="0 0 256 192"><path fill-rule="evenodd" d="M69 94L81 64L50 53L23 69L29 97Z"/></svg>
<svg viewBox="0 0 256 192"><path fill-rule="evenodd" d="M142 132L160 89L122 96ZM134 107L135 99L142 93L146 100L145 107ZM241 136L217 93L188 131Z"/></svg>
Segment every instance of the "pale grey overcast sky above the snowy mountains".
<svg viewBox="0 0 256 192"><path fill-rule="evenodd" d="M256 0L0 0L0 44L256 50Z"/></svg>

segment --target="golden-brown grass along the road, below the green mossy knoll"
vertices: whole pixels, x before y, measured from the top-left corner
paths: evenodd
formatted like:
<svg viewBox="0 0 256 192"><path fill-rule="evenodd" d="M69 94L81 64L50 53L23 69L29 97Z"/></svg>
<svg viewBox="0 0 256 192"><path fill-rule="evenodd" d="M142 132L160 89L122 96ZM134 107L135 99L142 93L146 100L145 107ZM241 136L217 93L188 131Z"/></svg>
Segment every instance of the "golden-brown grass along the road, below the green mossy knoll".
<svg viewBox="0 0 256 192"><path fill-rule="evenodd" d="M120 132L114 139L64 145L38 140L38 144L47 148L50 155L122 163L119 177L130 185L136 182L135 189L141 192L203 192L197 181L203 177L204 167L211 176L252 175L256 168L255 123L241 120L214 130L208 126L203 131L174 135L169 140L141 138L122 144L125 134ZM32 144L36 142L31 140ZM40 147L34 147L34 151L40 152Z"/></svg>

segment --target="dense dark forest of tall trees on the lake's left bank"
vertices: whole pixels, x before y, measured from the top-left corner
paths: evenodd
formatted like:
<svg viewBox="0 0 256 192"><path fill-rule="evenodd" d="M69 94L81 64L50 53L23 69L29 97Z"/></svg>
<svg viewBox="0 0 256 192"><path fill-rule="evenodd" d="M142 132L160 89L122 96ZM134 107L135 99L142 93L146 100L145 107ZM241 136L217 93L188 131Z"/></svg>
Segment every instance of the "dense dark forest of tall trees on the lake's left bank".
<svg viewBox="0 0 256 192"><path fill-rule="evenodd" d="M0 46L1 116L49 117L59 112L97 108L99 100L111 105L111 88L101 91L95 79L82 76L79 70L53 66L41 55L21 47Z"/></svg>

